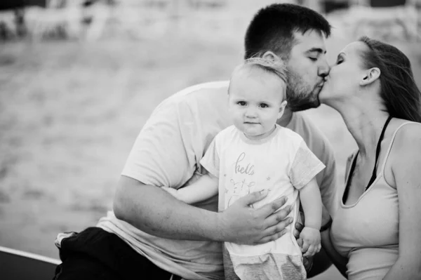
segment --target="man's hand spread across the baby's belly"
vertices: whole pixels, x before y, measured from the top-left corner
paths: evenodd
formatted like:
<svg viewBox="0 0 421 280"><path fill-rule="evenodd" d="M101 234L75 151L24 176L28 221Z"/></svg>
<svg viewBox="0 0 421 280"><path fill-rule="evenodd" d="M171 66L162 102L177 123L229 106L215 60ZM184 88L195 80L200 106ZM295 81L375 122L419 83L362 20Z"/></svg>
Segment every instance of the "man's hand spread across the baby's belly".
<svg viewBox="0 0 421 280"><path fill-rule="evenodd" d="M243 196L220 213L220 227L222 232L225 232L222 241L248 245L264 244L279 239L286 233L285 228L293 222L293 218L286 219L292 210L291 206L279 210L286 203L285 197L261 208L250 208L250 204L264 199L267 193L265 190Z"/></svg>

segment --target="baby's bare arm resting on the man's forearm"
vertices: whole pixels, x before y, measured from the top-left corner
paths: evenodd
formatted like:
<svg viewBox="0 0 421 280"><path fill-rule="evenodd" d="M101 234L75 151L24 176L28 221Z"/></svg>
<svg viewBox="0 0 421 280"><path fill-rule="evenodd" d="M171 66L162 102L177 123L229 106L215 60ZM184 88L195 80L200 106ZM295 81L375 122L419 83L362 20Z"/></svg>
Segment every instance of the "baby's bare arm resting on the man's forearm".
<svg viewBox="0 0 421 280"><path fill-rule="evenodd" d="M208 173L187 187L180 189L162 187L162 189L175 196L176 199L184 201L186 204L195 204L218 194L218 178Z"/></svg>

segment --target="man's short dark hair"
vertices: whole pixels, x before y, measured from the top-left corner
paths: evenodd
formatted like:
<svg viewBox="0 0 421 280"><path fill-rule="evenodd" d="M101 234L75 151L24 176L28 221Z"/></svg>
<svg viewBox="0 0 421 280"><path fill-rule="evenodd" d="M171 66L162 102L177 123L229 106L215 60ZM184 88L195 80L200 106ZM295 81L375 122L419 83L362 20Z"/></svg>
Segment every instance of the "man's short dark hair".
<svg viewBox="0 0 421 280"><path fill-rule="evenodd" d="M330 36L330 24L323 15L304 6L272 4L255 14L246 32L244 58L253 58L272 51L283 58L295 44L294 32L316 30Z"/></svg>

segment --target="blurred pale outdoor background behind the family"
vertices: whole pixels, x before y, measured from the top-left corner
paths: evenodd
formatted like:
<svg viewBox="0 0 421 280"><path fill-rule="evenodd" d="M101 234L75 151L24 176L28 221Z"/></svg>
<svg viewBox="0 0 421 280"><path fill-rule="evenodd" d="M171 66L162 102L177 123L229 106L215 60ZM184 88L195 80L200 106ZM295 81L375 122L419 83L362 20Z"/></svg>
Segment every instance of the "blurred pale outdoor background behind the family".
<svg viewBox="0 0 421 280"><path fill-rule="evenodd" d="M229 79L248 22L274 2L1 0L0 246L58 258L58 232L93 226L111 209L154 107L187 86ZM406 53L421 86L421 0L278 2L326 15L330 63L366 34ZM354 140L333 109L306 114L332 143L342 183Z"/></svg>

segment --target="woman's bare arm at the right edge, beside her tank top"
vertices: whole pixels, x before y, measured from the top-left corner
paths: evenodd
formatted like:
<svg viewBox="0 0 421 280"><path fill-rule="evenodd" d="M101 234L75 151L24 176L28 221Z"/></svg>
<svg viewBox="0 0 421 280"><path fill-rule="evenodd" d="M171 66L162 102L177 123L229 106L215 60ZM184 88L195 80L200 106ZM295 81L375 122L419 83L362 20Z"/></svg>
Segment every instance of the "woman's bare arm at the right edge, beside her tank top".
<svg viewBox="0 0 421 280"><path fill-rule="evenodd" d="M421 126L403 126L392 151L399 199L399 258L383 279L421 279Z"/></svg>

